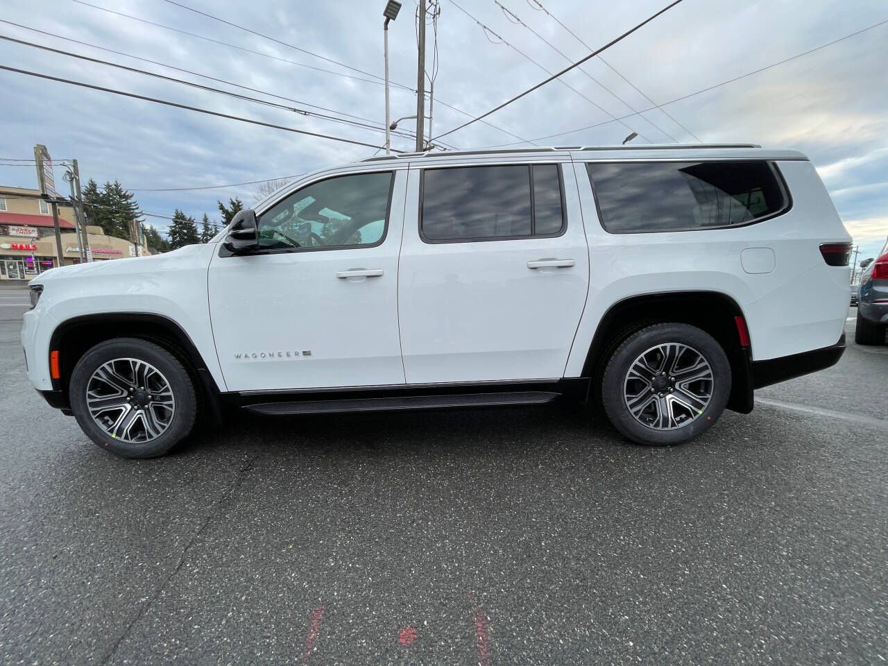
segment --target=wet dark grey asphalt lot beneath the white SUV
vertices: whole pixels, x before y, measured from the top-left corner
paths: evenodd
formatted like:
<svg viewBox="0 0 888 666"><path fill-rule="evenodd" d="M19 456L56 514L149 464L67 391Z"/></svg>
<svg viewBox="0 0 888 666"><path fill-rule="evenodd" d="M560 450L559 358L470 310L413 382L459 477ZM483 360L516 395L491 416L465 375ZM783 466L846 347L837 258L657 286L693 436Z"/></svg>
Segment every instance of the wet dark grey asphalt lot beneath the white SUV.
<svg viewBox="0 0 888 666"><path fill-rule="evenodd" d="M19 331L4 663L888 660L888 347L676 448L554 406L242 418L126 461L28 385Z"/></svg>

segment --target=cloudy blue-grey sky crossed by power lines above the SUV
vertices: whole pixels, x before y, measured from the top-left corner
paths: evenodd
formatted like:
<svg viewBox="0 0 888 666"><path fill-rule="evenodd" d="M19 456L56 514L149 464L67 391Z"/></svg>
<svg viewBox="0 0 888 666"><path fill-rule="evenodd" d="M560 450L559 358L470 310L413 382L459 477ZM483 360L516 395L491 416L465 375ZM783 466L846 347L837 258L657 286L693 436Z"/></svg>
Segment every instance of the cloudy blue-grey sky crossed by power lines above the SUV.
<svg viewBox="0 0 888 666"><path fill-rule="evenodd" d="M339 118L347 114L351 120L356 120L355 116L363 119L356 121L359 123L382 125L384 91L377 76L383 74L381 14L385 0L181 2L262 36L164 0L88 1L193 35L75 0L4 0L0 19L55 36L9 22L0 23L0 35L237 91L289 108ZM486 111L542 80L546 76L543 68L556 71L567 65L567 58L579 59L588 52L552 17L583 42L597 47L665 4L664 0L541 2L551 16L534 0L499 0L512 16L495 0L457 0L458 4L440 0L434 135L467 119L453 107L468 114ZM405 0L400 17L390 27L393 117L416 113L416 96L409 90L416 87L415 9L415 0ZM516 23L516 17L527 27ZM476 20L486 25L488 32ZM565 75L567 85L549 83L490 116L489 123L496 127L474 123L443 140L470 148L519 141L516 137L559 134L541 143L614 144L630 131L638 131L635 141L640 143L694 142L695 136L704 142L752 141L797 148L810 155L820 170L845 226L860 242L861 258L872 256L888 234L888 23L670 104L665 108L671 118L654 110L625 119L625 125L607 121L654 106L646 98L663 104L884 20L888 20L884 0L684 0L610 49L605 57L613 69L592 60L583 67L584 72ZM430 58L431 41L430 29ZM0 64L375 146L384 142L380 131L299 115L20 44L0 42ZM251 203L257 186L148 190L279 178L350 162L375 150L6 71L0 71L0 85L4 93L0 157L28 157L36 143L44 143L57 159L77 158L84 181L117 178L126 188L136 190L144 210L164 215L180 208L195 218L203 211L211 218L218 217L217 199L240 196ZM599 126L589 128L596 124ZM409 121L404 123L406 128L409 125ZM579 128L588 129L574 131ZM412 139L395 137L392 146L412 148ZM59 183L60 175L56 177ZM36 186L36 175L33 169L0 166L0 184ZM148 221L162 231L167 223L163 218Z"/></svg>

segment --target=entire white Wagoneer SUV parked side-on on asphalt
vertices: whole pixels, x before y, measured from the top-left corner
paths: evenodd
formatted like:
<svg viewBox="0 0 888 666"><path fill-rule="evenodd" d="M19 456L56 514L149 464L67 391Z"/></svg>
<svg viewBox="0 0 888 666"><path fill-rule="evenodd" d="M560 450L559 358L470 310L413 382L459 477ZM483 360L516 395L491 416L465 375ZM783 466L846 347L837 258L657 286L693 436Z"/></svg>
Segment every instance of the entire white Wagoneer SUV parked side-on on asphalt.
<svg viewBox="0 0 888 666"><path fill-rule="evenodd" d="M28 377L123 456L262 414L603 404L671 444L844 351L844 230L753 145L372 157L221 234L32 282Z"/></svg>

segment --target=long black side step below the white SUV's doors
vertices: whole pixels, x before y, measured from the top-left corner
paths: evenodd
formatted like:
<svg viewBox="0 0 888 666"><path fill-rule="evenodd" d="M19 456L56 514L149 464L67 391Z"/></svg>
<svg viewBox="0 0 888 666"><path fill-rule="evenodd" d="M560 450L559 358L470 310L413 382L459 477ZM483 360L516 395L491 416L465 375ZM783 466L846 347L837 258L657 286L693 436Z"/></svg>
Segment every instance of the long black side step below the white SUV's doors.
<svg viewBox="0 0 888 666"><path fill-rule="evenodd" d="M392 398L353 398L351 400L298 400L244 405L258 414L336 414L377 412L392 409L436 409L537 405L551 402L560 393L547 391L463 393L454 395L412 395Z"/></svg>

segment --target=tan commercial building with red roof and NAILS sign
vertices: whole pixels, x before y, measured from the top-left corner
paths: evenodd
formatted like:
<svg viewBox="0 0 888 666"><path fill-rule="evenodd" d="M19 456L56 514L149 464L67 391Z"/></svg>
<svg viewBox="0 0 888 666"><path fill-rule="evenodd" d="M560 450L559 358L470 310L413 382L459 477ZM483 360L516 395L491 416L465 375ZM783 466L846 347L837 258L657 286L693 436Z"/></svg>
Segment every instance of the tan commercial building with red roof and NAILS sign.
<svg viewBox="0 0 888 666"><path fill-rule="evenodd" d="M0 186L0 280L30 280L55 266L80 263L74 210L59 205L61 257L56 248L52 207L26 187ZM100 226L86 226L94 261L150 254L145 246L109 236Z"/></svg>

